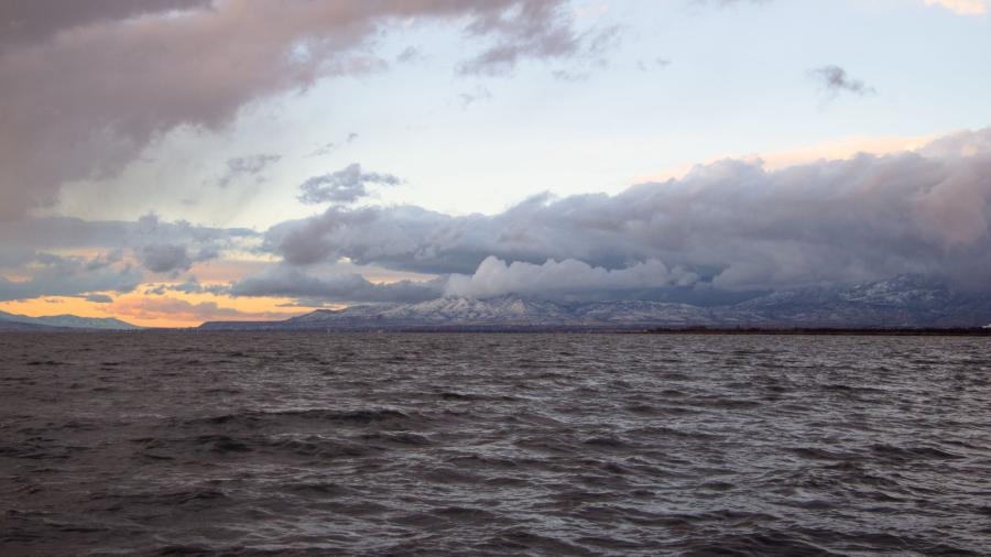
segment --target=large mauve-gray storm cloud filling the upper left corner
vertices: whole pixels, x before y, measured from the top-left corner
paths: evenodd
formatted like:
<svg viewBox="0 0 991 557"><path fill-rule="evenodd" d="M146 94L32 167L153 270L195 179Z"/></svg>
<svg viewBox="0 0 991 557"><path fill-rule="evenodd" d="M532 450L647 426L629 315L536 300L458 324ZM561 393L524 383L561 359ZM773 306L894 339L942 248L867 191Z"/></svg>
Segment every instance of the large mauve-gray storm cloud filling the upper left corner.
<svg viewBox="0 0 991 557"><path fill-rule="evenodd" d="M465 72L595 42L573 31L563 0L216 0L163 12L205 6L4 2L4 26L21 31L0 50L0 218L54 201L64 182L113 175L178 125L222 129L257 99L379 70L385 62L361 47L395 21L466 22L484 45Z"/></svg>

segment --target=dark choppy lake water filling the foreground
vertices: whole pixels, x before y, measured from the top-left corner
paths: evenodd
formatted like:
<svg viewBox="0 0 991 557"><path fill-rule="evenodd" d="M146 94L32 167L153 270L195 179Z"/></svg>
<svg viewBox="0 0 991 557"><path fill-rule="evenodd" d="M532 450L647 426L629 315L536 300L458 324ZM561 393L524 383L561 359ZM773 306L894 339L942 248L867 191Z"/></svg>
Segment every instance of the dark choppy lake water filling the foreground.
<svg viewBox="0 0 991 557"><path fill-rule="evenodd" d="M0 554L989 554L989 348L0 336Z"/></svg>

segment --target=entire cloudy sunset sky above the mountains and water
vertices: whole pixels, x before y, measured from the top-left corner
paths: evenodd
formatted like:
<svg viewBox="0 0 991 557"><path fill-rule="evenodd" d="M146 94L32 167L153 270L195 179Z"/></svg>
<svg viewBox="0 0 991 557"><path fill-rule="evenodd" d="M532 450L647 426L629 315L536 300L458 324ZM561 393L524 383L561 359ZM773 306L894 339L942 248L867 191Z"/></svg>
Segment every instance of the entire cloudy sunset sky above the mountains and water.
<svg viewBox="0 0 991 557"><path fill-rule="evenodd" d="M8 0L0 310L991 290L989 11Z"/></svg>

